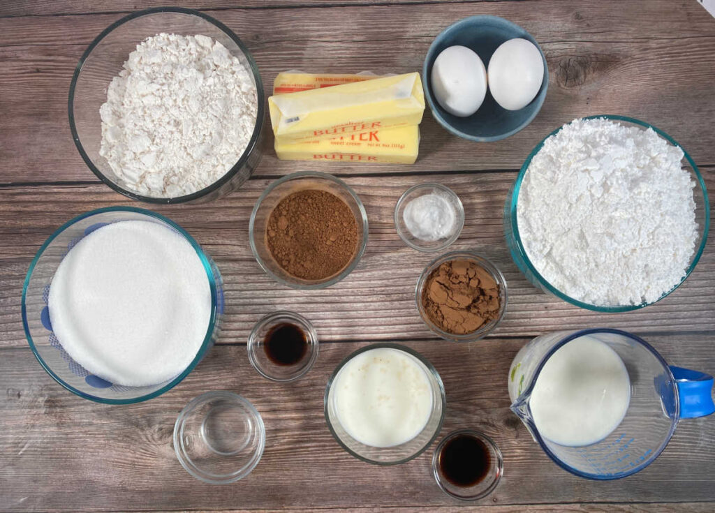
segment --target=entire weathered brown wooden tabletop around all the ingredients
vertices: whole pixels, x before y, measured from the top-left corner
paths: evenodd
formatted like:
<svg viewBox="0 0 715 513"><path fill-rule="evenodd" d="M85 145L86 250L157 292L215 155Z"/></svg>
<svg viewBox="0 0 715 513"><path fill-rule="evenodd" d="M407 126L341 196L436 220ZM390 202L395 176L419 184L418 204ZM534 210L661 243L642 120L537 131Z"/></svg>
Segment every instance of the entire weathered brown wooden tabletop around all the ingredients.
<svg viewBox="0 0 715 513"><path fill-rule="evenodd" d="M22 329L21 287L35 252L59 224L101 206L136 205L101 184L82 161L69 133L67 91L92 39L130 10L153 4L0 3L0 510L464 507L433 481L433 447L407 464L377 467L350 457L330 436L322 414L327 377L347 354L378 341L407 344L435 364L447 391L442 434L473 427L501 446L504 477L476 505L494 512L715 510L715 416L681 422L666 451L639 474L592 482L546 457L509 411L506 389L518 349L557 329L627 329L669 362L715 373L712 244L694 274L664 301L636 312L596 314L528 284L502 234L502 208L517 169L544 135L578 116L624 114L659 126L690 152L715 191L715 19L696 0L177 0L219 19L245 41L267 94L276 74L287 69L418 71L434 36L474 14L503 16L530 31L546 54L551 81L541 113L504 141L463 141L426 112L413 166L283 162L267 149L239 191L204 205L154 207L215 258L225 279L224 329L208 357L167 394L107 406L66 392L41 369ZM270 148L270 137L267 143ZM300 169L345 179L370 219L358 268L317 292L272 282L248 246L257 196L278 176ZM508 280L506 317L480 342L435 339L415 309L414 284L433 257L398 239L392 214L402 191L422 181L450 186L464 203L464 230L452 249L480 251ZM312 371L290 385L259 377L245 347L252 324L283 308L311 319L322 343ZM267 448L254 472L222 487L184 472L171 442L179 410L217 389L247 397L267 429Z"/></svg>

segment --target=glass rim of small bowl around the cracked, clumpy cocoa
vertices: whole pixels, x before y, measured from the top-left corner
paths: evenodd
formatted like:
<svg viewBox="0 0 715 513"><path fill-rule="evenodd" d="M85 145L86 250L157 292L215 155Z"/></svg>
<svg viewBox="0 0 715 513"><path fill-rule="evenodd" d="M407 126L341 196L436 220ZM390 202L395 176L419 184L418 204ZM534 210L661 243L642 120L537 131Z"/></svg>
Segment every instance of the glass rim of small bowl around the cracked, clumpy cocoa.
<svg viewBox="0 0 715 513"><path fill-rule="evenodd" d="M422 297L421 292L425 287L425 283L427 282L429 275L444 262L449 262L450 260L455 260L460 257L463 257L464 259L475 260L481 267L484 267L484 269L486 269L489 274L492 275L492 277L498 283L499 287L501 287L504 292L504 301L503 304L499 305L499 317L496 319L494 324L489 329L478 329L475 332L463 335L445 332L443 329L438 328L430 319L428 319L427 315L423 313L422 301L420 300ZM502 319L506 315L506 307L508 302L508 287L506 284L506 278L502 274L501 269L499 269L490 259L488 259L487 257L483 257L476 251L449 251L448 253L437 257L432 262L427 264L425 269L423 269L423 272L420 274L420 277L417 280L417 285L415 285L415 303L417 304L417 311L420 314L420 318L435 335L438 335L440 338L445 339L449 342L476 342L477 340L486 337L488 334L493 332L499 324L501 324Z"/></svg>

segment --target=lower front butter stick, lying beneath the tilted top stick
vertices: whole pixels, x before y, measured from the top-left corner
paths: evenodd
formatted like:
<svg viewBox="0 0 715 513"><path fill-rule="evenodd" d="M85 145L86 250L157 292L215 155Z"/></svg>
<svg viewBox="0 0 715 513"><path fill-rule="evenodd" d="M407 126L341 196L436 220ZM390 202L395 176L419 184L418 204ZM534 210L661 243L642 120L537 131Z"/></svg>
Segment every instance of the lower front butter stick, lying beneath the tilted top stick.
<svg viewBox="0 0 715 513"><path fill-rule="evenodd" d="M298 143L275 141L275 152L281 160L414 164L419 149L420 130L416 125Z"/></svg>

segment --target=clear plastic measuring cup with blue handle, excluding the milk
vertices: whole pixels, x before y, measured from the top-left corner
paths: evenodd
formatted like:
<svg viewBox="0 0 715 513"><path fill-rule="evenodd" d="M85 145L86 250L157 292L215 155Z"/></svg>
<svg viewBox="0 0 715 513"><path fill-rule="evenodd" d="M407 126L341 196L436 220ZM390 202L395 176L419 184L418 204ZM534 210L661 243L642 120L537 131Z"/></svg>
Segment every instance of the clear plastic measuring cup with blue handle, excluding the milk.
<svg viewBox="0 0 715 513"><path fill-rule="evenodd" d="M623 421L605 439L568 447L541 436L529 400L546 361L574 339L588 335L608 344L626 364L631 402ZM713 377L666 364L643 339L618 329L584 329L536 337L521 348L509 369L511 410L534 440L563 469L588 479L619 479L647 467L670 441L679 419L715 412Z"/></svg>

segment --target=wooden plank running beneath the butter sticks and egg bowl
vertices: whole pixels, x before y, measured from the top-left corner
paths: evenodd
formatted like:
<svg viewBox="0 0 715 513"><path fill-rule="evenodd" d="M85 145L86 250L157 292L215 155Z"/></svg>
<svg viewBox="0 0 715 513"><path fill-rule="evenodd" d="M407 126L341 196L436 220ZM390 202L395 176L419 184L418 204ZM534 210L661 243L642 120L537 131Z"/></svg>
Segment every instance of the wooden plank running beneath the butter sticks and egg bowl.
<svg viewBox="0 0 715 513"><path fill-rule="evenodd" d="M546 53L548 96L526 129L503 141L474 144L448 134L425 112L420 158L412 166L270 159L257 172L518 169L544 135L592 114L649 121L680 141L698 164L715 164L712 138L704 128L715 118L714 102L705 100L711 98L715 69L715 20L694 1L629 1L618 9L600 1L548 0L215 13L249 46L267 94L276 74L286 69L420 70L434 36L451 21L473 14L496 14L521 24ZM69 135L66 91L89 43L120 17L0 19L0 183L94 179ZM267 153L274 154L272 149Z"/></svg>

